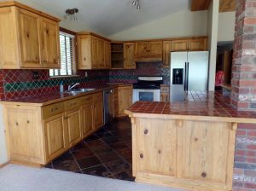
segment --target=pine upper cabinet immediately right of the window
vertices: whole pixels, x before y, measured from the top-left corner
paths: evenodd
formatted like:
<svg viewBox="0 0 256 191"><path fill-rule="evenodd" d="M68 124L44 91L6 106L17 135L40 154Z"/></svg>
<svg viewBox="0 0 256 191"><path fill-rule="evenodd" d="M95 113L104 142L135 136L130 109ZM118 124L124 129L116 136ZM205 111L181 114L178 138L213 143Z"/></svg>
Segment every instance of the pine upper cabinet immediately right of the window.
<svg viewBox="0 0 256 191"><path fill-rule="evenodd" d="M77 35L79 70L109 69L110 42L91 32Z"/></svg>

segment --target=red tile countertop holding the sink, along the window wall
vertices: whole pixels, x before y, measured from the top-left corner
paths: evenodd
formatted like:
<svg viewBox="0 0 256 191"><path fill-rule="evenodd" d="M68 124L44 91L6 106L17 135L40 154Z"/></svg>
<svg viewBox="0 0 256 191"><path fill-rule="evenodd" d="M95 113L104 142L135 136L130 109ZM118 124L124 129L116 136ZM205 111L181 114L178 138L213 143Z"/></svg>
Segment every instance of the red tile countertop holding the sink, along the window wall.
<svg viewBox="0 0 256 191"><path fill-rule="evenodd" d="M66 100L70 100L70 99L73 99L76 97L86 96L86 95L94 94L96 92L100 92L102 90L109 90L109 89L113 89L115 87L125 86L125 85L131 85L131 84L108 84L108 85L96 87L95 88L96 90L91 90L91 91L87 91L87 92L80 92L80 93L75 93L75 94L53 92L53 93L49 93L49 94L45 94L45 95L27 96L27 97L21 97L21 98L9 100L9 101L0 101L0 103L2 103L2 104L15 103L15 104L19 104L19 105L46 106L46 105L49 105L49 104L52 104L55 102L66 101Z"/></svg>

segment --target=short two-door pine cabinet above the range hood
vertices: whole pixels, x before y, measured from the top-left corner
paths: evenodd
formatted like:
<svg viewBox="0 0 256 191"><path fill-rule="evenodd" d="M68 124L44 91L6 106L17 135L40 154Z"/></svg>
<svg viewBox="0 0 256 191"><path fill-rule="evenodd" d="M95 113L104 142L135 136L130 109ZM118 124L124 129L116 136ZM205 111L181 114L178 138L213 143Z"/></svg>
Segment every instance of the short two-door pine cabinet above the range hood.
<svg viewBox="0 0 256 191"><path fill-rule="evenodd" d="M163 42L143 41L135 43L135 61L162 61Z"/></svg>

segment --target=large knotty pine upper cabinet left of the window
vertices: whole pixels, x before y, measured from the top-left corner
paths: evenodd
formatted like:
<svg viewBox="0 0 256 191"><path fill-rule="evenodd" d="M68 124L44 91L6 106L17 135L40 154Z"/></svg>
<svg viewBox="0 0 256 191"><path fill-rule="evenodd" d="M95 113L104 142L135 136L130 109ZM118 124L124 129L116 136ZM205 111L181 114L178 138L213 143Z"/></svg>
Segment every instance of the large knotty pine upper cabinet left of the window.
<svg viewBox="0 0 256 191"><path fill-rule="evenodd" d="M20 3L0 3L0 67L59 68L59 21Z"/></svg>

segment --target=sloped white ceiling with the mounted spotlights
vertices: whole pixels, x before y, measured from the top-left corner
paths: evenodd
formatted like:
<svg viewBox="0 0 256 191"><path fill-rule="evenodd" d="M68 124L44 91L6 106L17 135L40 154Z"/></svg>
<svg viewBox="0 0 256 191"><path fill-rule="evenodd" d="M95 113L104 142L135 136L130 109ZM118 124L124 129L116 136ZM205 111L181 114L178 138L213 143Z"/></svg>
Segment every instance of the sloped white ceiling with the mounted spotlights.
<svg viewBox="0 0 256 191"><path fill-rule="evenodd" d="M141 10L132 7L132 0L32 1L63 16L66 9L78 8L79 24L84 23L84 26L90 26L92 31L105 36L189 9L189 0L141 0Z"/></svg>

